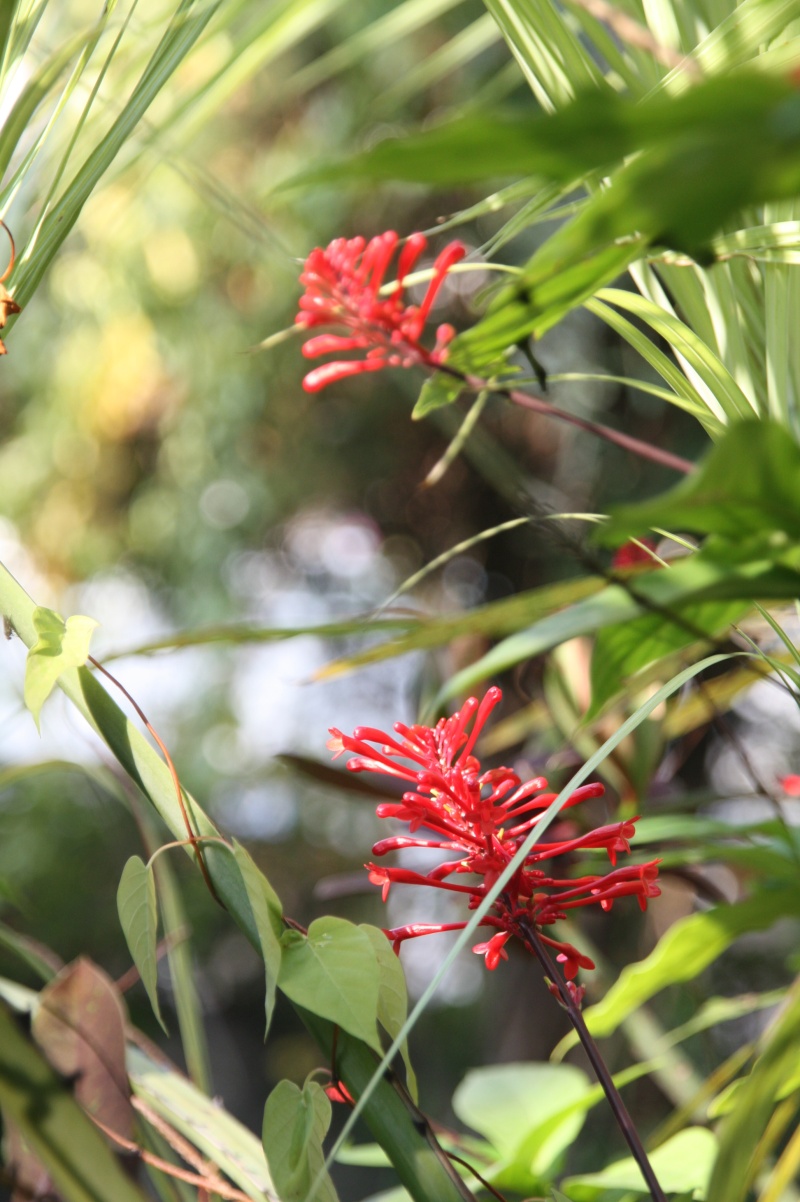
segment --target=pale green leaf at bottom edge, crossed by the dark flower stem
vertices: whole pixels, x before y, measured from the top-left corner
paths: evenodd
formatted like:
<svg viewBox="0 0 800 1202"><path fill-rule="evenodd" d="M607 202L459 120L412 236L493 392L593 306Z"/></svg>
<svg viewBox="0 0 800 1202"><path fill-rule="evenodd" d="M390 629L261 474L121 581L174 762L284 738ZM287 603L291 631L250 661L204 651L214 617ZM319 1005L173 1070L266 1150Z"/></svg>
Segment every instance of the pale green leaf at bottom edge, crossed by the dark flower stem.
<svg viewBox="0 0 800 1202"><path fill-rule="evenodd" d="M704 1196L711 1176L717 1141L705 1127L688 1127L650 1153L650 1164L667 1194L697 1190ZM605 1196L607 1190L626 1190L649 1194L641 1171L632 1156L617 1160L601 1173L569 1177L563 1182L574 1202L595 1202ZM709 1196L710 1197L710 1196ZM733 1202L733 1195L728 1202Z"/></svg>

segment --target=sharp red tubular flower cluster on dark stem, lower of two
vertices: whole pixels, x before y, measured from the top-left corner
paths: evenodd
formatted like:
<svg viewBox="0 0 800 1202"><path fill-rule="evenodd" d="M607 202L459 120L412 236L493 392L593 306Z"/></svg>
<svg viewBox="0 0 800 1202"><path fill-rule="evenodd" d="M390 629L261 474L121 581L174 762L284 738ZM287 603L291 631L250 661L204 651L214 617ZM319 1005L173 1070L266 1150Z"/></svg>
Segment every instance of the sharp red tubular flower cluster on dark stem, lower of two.
<svg viewBox="0 0 800 1202"><path fill-rule="evenodd" d="M455 853L426 875L406 868L368 864L370 880L382 886L384 900L393 883L424 885L462 893L467 909L474 910L555 799L555 793L542 792L547 781L541 776L523 783L511 768L482 772L479 761L472 755L501 696L500 689L489 689L482 702L470 697L458 714L441 719L434 727L396 722L396 737L370 727L358 727L352 737L330 731L328 746L335 756L354 752L347 764L351 772L377 772L410 785L402 801L386 802L377 808L380 817L407 822L410 834L381 839L372 849L375 856L401 847L436 847ZM567 798L565 808L602 793L601 784L583 785ZM482 920L480 924L494 928L495 934L472 951L485 957L486 968L495 969L507 958L505 945L512 935L520 934L520 923L526 920L537 927L542 941L556 950L569 982L579 968L593 969L587 956L581 956L572 944L544 935L542 928L563 918L577 906L598 904L610 910L620 897L637 897L644 910L647 898L658 897L661 892L655 883L658 861L614 867L602 876L568 879L550 876L539 865L590 847L604 847L611 864L616 865L617 853L631 850L628 840L635 834L635 822L637 819L629 819L556 843L537 843ZM435 838L417 837L420 829ZM470 883L452 880L467 875L478 880ZM465 926L466 922L410 923L388 930L387 935L398 951L406 939L461 930ZM575 995L578 990L572 988Z"/></svg>

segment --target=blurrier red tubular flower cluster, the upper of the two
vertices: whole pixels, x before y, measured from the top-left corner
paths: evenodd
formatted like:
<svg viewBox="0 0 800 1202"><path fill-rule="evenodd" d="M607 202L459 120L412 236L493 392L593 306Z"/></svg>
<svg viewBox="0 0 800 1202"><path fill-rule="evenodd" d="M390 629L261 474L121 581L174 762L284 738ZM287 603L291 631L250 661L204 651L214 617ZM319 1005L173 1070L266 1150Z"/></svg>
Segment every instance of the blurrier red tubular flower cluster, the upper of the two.
<svg viewBox="0 0 800 1202"><path fill-rule="evenodd" d="M398 258L394 287L381 294L389 262L400 242L394 230L365 242L364 238L336 238L326 250L312 250L305 261L300 284L298 326L344 326L347 334L318 334L303 345L306 358L335 355L340 351L365 351L360 359L335 359L314 371L303 381L306 392L318 392L329 383L363 371L380 371L387 367L422 364L436 368L443 363L447 346L455 335L452 326L440 326L436 345L429 351L422 337L444 276L454 263L466 255L460 242L449 243L434 263L434 274L422 304L406 304L405 279L413 270L428 248L422 233L406 239Z"/></svg>

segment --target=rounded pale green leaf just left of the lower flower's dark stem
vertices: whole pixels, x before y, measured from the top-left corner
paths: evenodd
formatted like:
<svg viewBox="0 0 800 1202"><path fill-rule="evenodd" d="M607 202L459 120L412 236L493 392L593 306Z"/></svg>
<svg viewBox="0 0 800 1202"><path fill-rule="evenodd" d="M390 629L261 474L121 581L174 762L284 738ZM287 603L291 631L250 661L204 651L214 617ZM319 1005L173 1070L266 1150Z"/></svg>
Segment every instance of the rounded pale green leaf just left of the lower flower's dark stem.
<svg viewBox="0 0 800 1202"><path fill-rule="evenodd" d="M453 1095L453 1109L497 1149L498 1188L526 1194L549 1176L586 1117L578 1108L560 1112L590 1093L585 1073L573 1065L502 1064L472 1069Z"/></svg>

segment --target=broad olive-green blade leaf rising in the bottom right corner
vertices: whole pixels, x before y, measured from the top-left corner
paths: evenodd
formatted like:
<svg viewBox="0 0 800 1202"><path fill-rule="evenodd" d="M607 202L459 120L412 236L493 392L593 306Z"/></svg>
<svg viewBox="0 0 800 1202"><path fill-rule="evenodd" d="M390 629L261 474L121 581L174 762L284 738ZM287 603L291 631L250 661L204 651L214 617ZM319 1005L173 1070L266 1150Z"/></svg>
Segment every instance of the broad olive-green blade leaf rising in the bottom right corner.
<svg viewBox="0 0 800 1202"><path fill-rule="evenodd" d="M769 1033L766 1046L742 1082L736 1106L720 1127L720 1155L709 1185L708 1202L740 1202L758 1168L757 1146L787 1077L800 1057L800 990Z"/></svg>

